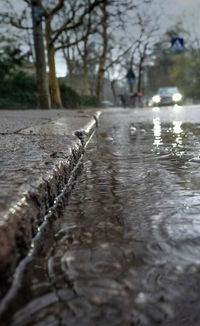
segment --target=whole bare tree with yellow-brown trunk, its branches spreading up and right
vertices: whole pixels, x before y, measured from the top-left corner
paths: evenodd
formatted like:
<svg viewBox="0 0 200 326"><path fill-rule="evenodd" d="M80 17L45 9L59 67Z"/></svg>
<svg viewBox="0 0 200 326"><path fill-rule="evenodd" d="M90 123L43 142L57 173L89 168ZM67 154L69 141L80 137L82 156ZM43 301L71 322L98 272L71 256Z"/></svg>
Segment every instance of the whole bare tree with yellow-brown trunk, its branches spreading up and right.
<svg viewBox="0 0 200 326"><path fill-rule="evenodd" d="M32 7L32 0L24 0L24 2ZM103 0L69 0L68 2L66 0L37 0L36 2L45 19L51 104L52 107L59 108L62 106L62 101L56 78L55 52L62 47L60 45L57 46L57 41L63 33L80 27L85 16L90 14ZM23 25L23 16L16 19L15 15L11 14L9 18L13 26L21 29L26 28Z"/></svg>

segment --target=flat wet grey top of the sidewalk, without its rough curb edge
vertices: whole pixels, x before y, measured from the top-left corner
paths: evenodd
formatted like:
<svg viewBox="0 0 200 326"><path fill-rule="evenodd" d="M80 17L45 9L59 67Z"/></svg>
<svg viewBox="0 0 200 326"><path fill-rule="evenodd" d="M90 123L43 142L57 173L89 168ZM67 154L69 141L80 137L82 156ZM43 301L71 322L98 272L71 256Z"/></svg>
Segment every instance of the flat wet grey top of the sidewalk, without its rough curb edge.
<svg viewBox="0 0 200 326"><path fill-rule="evenodd" d="M0 112L0 221L59 162L69 157L95 111L27 110Z"/></svg>

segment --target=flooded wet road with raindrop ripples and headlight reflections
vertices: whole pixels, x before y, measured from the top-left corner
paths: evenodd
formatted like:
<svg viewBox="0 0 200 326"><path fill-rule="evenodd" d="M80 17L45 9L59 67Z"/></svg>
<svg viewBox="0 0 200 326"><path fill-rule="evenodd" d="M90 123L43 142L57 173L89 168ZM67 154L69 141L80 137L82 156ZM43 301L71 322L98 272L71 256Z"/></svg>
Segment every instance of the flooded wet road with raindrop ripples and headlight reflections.
<svg viewBox="0 0 200 326"><path fill-rule="evenodd" d="M199 326L199 153L200 107L105 111L1 325Z"/></svg>

